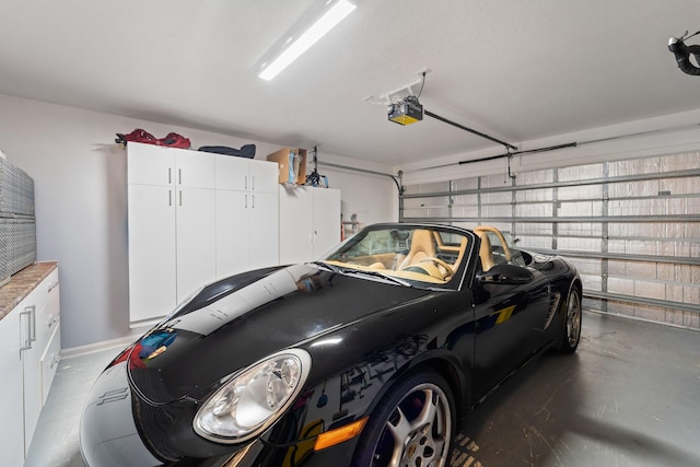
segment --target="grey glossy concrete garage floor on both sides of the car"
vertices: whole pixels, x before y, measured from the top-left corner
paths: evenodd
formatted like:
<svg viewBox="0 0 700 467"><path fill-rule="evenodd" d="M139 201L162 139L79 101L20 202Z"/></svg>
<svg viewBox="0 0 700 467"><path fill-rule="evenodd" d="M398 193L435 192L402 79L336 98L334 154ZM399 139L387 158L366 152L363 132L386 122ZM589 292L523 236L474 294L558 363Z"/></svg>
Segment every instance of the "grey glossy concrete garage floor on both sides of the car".
<svg viewBox="0 0 700 467"><path fill-rule="evenodd" d="M700 332L584 313L574 355L547 354L479 406L450 467L700 466ZM117 353L63 359L26 467L82 467L84 397Z"/></svg>

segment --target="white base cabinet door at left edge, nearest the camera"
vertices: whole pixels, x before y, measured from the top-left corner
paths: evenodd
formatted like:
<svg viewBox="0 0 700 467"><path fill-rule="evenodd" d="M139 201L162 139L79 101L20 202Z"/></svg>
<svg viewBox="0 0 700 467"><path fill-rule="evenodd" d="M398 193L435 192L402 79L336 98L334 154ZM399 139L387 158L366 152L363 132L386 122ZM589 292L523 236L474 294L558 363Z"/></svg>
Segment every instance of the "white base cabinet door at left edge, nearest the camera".
<svg viewBox="0 0 700 467"><path fill-rule="evenodd" d="M0 465L24 464L24 408L20 352L20 314L11 311L0 319Z"/></svg>

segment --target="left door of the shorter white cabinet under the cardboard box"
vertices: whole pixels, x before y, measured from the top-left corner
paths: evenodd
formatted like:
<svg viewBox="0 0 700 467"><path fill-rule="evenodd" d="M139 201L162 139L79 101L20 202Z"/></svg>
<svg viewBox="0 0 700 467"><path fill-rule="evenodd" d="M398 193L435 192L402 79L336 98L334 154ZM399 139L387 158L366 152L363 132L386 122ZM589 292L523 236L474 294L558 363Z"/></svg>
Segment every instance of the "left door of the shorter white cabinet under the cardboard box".
<svg viewBox="0 0 700 467"><path fill-rule="evenodd" d="M308 261L314 256L312 191L280 185L279 199L280 264Z"/></svg>

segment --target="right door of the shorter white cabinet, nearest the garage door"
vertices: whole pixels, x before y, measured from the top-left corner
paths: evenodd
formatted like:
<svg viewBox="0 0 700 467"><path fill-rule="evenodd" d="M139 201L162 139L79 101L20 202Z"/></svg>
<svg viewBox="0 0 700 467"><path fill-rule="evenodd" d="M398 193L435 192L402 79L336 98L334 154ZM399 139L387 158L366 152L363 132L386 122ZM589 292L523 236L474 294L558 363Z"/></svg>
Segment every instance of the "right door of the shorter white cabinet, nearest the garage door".
<svg viewBox="0 0 700 467"><path fill-rule="evenodd" d="M340 190L310 188L314 195L314 259L340 242Z"/></svg>

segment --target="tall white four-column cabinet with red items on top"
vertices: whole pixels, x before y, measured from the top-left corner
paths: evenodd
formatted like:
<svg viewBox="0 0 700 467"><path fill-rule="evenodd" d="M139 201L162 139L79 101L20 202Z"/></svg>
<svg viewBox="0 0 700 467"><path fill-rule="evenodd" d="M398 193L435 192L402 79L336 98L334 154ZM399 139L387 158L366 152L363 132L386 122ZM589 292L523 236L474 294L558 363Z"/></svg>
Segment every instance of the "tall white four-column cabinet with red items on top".
<svg viewBox="0 0 700 467"><path fill-rule="evenodd" d="M279 264L277 164L129 142L131 326L199 287Z"/></svg>

